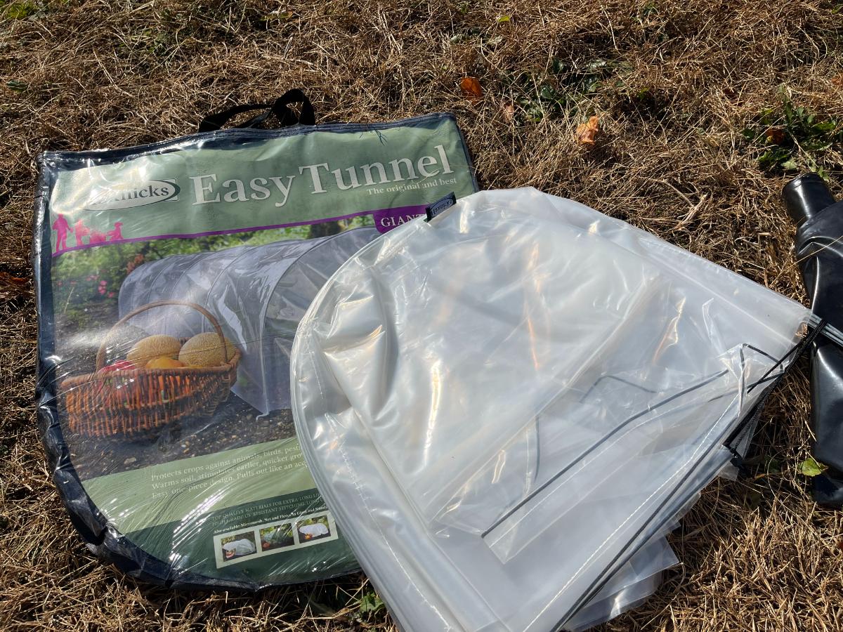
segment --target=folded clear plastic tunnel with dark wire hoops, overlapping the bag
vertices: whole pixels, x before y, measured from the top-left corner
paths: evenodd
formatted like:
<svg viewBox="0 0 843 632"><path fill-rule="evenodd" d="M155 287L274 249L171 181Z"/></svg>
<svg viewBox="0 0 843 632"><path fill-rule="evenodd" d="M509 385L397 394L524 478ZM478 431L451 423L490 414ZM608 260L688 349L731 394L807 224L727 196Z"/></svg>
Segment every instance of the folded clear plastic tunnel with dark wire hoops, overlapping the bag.
<svg viewBox="0 0 843 632"><path fill-rule="evenodd" d="M403 629L583 629L675 563L664 535L808 316L577 202L487 191L326 282L293 415Z"/></svg>

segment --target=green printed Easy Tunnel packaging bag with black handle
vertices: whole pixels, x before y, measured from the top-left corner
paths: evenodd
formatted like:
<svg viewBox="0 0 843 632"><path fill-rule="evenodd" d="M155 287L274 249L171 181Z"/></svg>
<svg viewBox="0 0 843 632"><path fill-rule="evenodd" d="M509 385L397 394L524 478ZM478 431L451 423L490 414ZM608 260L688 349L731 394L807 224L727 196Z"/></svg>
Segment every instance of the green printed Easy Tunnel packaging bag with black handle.
<svg viewBox="0 0 843 632"><path fill-rule="evenodd" d="M291 91L38 160L40 425L72 522L132 576L257 589L358 568L295 436L293 334L357 249L476 185L451 115L313 123Z"/></svg>

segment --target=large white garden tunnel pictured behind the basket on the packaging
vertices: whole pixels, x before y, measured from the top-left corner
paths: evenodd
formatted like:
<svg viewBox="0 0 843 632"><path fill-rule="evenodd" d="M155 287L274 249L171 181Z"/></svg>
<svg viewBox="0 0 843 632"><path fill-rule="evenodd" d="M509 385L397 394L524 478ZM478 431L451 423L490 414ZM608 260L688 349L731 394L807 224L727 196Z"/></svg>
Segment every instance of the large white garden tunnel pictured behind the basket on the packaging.
<svg viewBox="0 0 843 632"><path fill-rule="evenodd" d="M150 261L123 281L120 315L160 300L201 305L243 353L234 394L263 414L288 409L289 355L298 321L327 278L378 235L376 228L354 228ZM212 331L201 313L179 305L140 313L132 324L176 338Z"/></svg>

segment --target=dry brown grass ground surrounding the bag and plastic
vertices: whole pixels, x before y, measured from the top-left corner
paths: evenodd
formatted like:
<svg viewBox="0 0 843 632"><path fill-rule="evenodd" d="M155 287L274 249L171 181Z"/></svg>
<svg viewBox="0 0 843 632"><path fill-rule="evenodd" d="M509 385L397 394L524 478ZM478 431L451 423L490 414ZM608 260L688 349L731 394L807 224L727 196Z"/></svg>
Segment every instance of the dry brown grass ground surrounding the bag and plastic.
<svg viewBox="0 0 843 632"><path fill-rule="evenodd" d="M843 194L840 2L0 0L0 629L393 629L362 576L256 597L126 579L74 533L35 424L35 155L179 136L291 87L319 122L454 112L482 187L572 197L802 301L781 186L822 169ZM807 394L800 366L749 477L705 490L681 565L604 629L843 629L843 514L799 473Z"/></svg>

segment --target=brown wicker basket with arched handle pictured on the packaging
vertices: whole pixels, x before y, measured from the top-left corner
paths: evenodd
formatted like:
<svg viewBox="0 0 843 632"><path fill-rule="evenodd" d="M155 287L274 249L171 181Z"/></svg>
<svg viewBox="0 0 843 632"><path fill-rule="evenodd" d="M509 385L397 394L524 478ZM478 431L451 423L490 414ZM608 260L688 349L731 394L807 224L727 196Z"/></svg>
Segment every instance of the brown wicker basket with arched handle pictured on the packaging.
<svg viewBox="0 0 843 632"><path fill-rule="evenodd" d="M104 372L105 344L115 329L137 313L162 305L185 305L202 313L223 341L225 364L220 367L137 368ZM112 327L97 352L96 372L62 382L67 423L89 437L157 434L172 421L188 415L212 415L237 380L240 351L228 357L217 319L196 303L156 301L127 313Z"/></svg>

